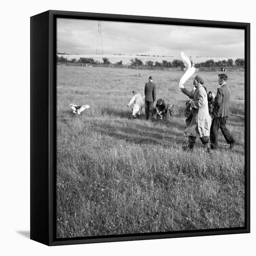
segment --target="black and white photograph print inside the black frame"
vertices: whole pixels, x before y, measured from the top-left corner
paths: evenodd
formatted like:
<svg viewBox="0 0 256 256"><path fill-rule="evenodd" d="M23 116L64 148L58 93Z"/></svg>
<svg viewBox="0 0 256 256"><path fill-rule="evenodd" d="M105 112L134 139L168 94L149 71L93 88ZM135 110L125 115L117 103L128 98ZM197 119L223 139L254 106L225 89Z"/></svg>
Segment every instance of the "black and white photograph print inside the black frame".
<svg viewBox="0 0 256 256"><path fill-rule="evenodd" d="M56 238L245 227L245 31L56 20Z"/></svg>

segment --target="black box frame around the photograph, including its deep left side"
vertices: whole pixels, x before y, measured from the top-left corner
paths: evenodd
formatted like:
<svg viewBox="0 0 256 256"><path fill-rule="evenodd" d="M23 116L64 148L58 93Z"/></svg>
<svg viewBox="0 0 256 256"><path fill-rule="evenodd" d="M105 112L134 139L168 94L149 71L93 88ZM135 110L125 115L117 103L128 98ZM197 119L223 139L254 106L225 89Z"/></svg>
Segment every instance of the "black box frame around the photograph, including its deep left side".
<svg viewBox="0 0 256 256"><path fill-rule="evenodd" d="M242 228L56 238L56 19L89 19L245 32L245 225ZM40 61L39 61L40 60ZM250 24L50 10L31 17L31 239L49 246L250 232Z"/></svg>

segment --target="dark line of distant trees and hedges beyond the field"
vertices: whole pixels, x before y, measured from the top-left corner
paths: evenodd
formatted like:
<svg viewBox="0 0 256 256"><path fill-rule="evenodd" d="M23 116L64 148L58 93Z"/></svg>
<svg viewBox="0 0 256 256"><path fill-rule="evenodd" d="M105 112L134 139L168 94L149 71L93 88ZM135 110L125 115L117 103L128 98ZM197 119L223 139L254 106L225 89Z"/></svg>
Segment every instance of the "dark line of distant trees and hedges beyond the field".
<svg viewBox="0 0 256 256"><path fill-rule="evenodd" d="M94 61L93 58L84 58L80 57L79 60L71 59L68 60L67 57L58 56L57 55L57 62L58 63L81 63L81 64L91 64L91 65L116 65L122 66L122 61L118 61L115 63L111 63L108 58L102 58L102 62ZM126 65L127 66L127 65ZM143 63L138 58L131 59L130 64L128 66L131 67L164 67L164 68L184 68L184 64L181 60L173 60L173 61L146 61ZM223 61L214 61L214 60L207 60L200 63L195 63L196 68L200 67L244 67L244 59L237 58L235 61L232 59L223 60Z"/></svg>

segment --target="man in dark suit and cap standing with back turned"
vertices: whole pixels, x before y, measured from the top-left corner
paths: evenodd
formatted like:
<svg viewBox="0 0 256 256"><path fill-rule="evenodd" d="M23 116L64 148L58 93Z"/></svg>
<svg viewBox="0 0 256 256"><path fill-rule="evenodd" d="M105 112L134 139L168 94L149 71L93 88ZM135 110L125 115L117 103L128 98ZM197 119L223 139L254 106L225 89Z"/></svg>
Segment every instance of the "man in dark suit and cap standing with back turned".
<svg viewBox="0 0 256 256"><path fill-rule="evenodd" d="M148 83L145 84L145 115L146 120L151 119L154 114L154 104L156 99L156 89L153 83L153 77L149 76Z"/></svg>

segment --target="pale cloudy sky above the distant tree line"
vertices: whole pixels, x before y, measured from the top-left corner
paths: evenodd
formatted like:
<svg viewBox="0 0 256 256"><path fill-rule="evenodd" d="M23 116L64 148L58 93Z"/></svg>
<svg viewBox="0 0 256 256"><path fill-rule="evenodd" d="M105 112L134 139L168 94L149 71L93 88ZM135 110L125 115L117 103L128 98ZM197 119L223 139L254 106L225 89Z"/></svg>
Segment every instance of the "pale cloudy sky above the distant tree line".
<svg viewBox="0 0 256 256"><path fill-rule="evenodd" d="M244 30L101 21L104 54L244 58ZM57 52L96 54L98 20L57 20Z"/></svg>

